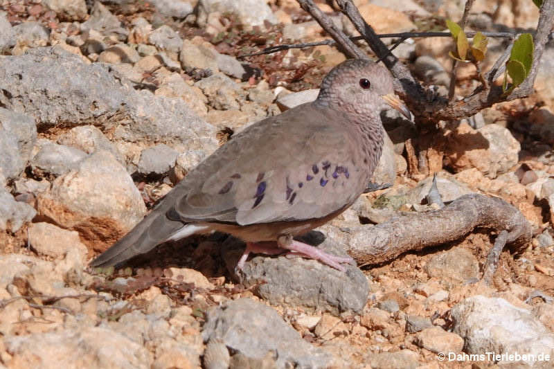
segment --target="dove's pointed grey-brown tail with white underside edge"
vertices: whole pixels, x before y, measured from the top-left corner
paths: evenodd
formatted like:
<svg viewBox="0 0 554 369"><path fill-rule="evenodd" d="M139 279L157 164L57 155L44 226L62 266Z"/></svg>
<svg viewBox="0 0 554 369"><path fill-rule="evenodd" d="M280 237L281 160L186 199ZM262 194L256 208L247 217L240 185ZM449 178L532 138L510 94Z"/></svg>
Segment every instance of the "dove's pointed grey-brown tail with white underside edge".
<svg viewBox="0 0 554 369"><path fill-rule="evenodd" d="M169 195L169 194L168 194ZM167 197L167 196L166 196ZM199 226L184 224L168 217L172 202L163 199L139 224L109 249L91 261L91 267L110 267L125 262L136 255L148 253L158 244L192 235Z"/></svg>

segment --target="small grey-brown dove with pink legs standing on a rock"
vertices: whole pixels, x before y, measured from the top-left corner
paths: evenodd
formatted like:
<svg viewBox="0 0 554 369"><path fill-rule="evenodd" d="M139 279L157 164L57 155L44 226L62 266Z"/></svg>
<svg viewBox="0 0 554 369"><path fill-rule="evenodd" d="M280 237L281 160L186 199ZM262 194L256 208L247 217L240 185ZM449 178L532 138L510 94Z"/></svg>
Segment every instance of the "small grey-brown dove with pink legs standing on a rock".
<svg viewBox="0 0 554 369"><path fill-rule="evenodd" d="M250 253L292 253L345 271L349 257L294 237L346 210L366 190L379 161L381 113L410 112L379 64L346 60L321 82L313 102L260 120L186 174L92 267L118 266L164 242L214 231L246 242Z"/></svg>

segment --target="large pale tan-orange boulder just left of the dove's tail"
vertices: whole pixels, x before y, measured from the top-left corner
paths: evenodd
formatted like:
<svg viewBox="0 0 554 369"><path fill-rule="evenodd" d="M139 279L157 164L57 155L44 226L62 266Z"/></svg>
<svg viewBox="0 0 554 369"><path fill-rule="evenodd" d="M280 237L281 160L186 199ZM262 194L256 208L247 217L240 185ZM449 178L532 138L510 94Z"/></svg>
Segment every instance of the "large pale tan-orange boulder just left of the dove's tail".
<svg viewBox="0 0 554 369"><path fill-rule="evenodd" d="M85 244L100 249L129 231L146 212L123 165L104 150L57 177L51 190L39 195L37 207L64 228L78 230Z"/></svg>

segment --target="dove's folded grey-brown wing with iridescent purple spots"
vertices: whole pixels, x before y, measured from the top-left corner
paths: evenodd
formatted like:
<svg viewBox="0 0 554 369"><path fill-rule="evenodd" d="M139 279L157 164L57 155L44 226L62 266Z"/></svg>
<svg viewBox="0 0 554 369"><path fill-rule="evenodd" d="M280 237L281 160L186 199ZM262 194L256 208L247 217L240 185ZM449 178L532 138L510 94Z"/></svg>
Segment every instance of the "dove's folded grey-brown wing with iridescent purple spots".
<svg viewBox="0 0 554 369"><path fill-rule="evenodd" d="M248 127L187 174L171 211L185 222L247 225L325 217L352 204L373 168L364 168L345 119L305 104Z"/></svg>

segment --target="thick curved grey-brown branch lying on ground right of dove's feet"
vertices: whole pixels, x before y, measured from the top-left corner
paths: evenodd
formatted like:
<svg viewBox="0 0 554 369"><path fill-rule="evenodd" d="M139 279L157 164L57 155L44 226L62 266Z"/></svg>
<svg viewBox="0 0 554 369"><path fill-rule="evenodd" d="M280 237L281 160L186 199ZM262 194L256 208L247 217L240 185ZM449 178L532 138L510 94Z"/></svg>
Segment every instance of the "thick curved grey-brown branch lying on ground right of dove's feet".
<svg viewBox="0 0 554 369"><path fill-rule="evenodd" d="M359 265L381 264L406 251L460 240L475 228L490 228L499 235L506 231L502 236L506 237L504 244L515 253L524 251L532 236L530 223L517 208L498 197L470 194L458 197L440 210L404 214L364 227L364 231L350 237L348 253ZM498 249L501 251L503 245L494 251Z"/></svg>

